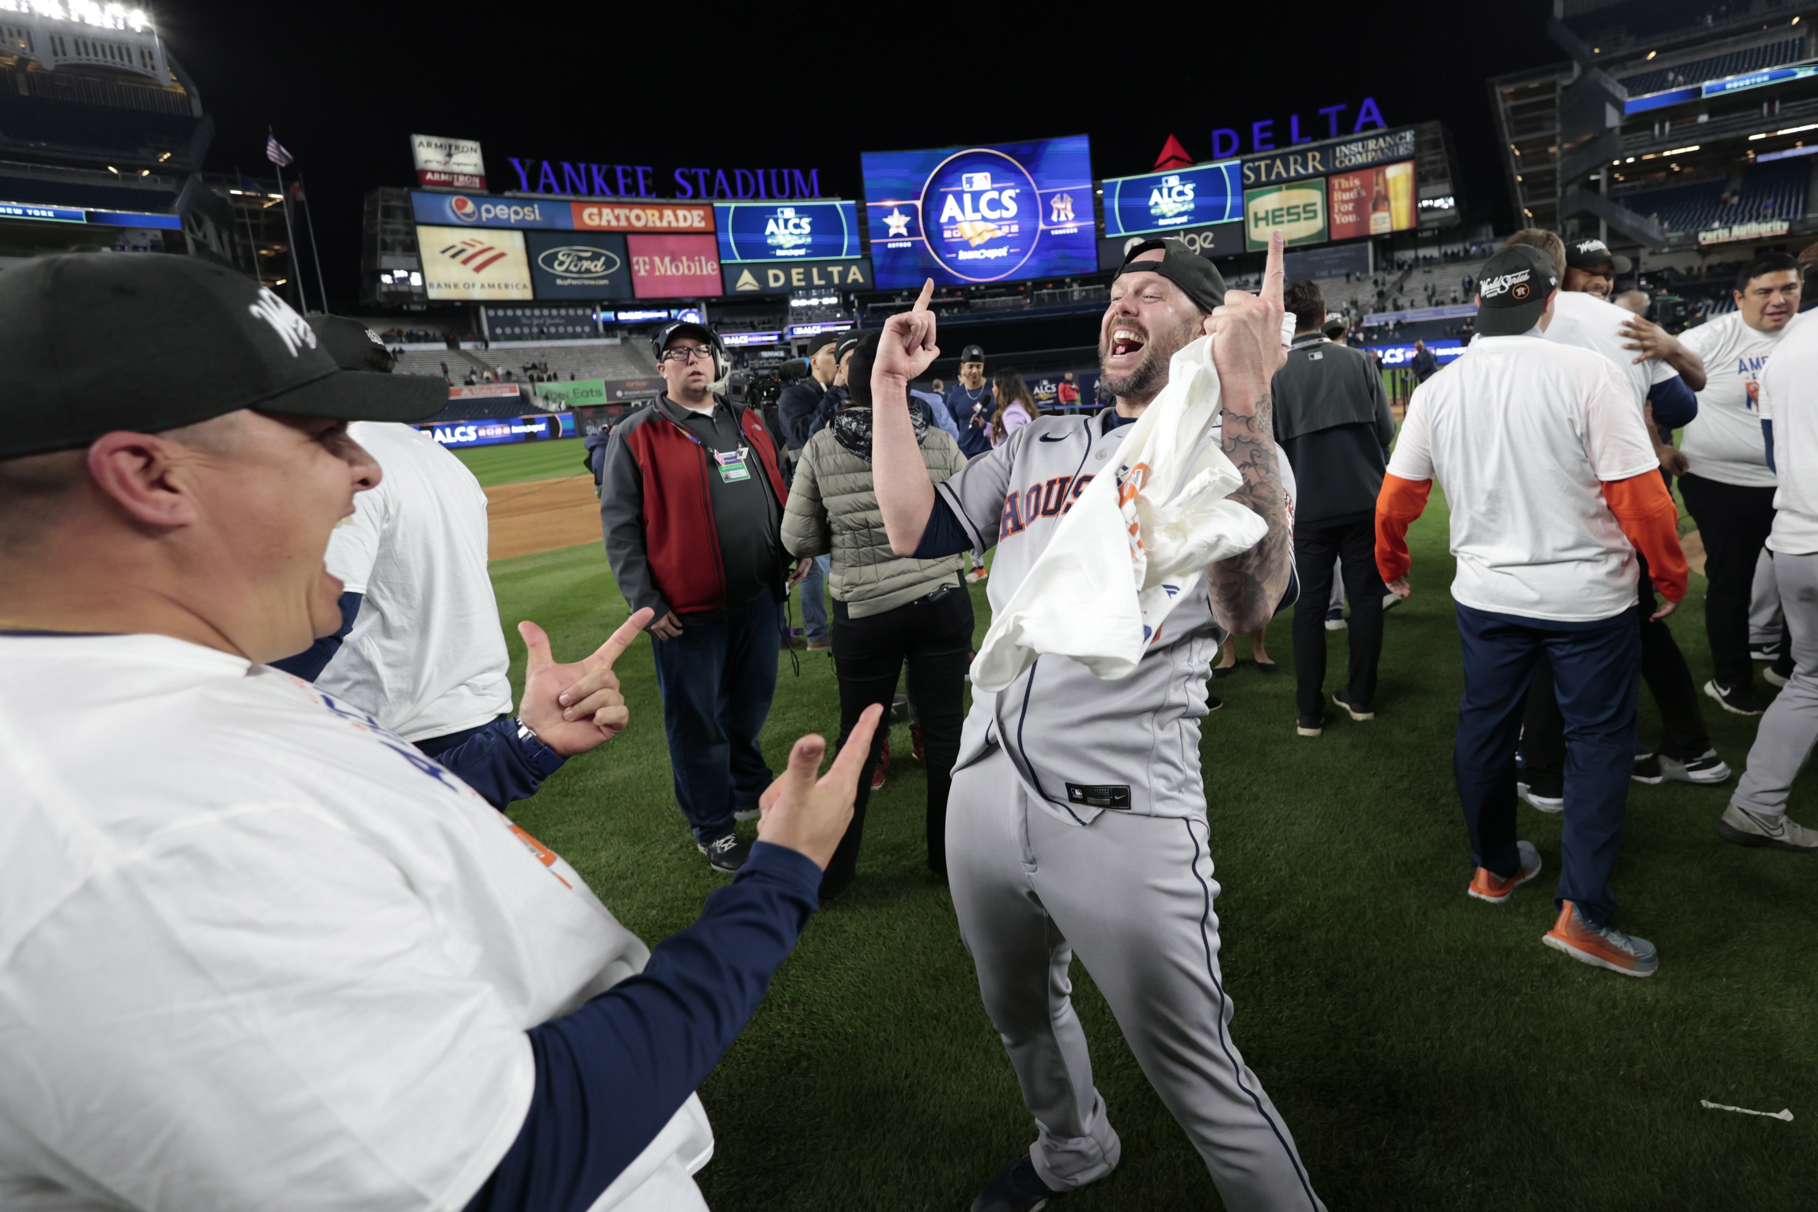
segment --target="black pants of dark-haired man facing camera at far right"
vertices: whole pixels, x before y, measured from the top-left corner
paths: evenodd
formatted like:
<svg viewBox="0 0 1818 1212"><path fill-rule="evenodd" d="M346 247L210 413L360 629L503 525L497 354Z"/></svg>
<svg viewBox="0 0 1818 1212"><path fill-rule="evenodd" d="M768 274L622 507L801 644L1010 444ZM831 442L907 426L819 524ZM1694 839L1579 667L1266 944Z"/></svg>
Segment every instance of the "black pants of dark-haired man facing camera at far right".
<svg viewBox="0 0 1818 1212"><path fill-rule="evenodd" d="M1711 665L1727 690L1754 681L1749 663L1749 596L1754 561L1774 529L1774 489L1745 489L1703 476L1680 476L1680 496L1705 545L1705 634Z"/></svg>

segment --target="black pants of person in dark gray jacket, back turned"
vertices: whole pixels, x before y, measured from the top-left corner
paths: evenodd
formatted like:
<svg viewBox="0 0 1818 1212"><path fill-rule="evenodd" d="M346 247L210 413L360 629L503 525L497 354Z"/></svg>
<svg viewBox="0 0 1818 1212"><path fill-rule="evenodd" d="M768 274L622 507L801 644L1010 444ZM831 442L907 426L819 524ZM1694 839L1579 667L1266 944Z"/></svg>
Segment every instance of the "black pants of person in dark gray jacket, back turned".
<svg viewBox="0 0 1818 1212"><path fill-rule="evenodd" d="M1340 518L1294 527L1294 709L1302 716L1324 714L1325 703L1325 611L1333 598L1333 560L1338 560L1351 596L1351 678L1345 696L1358 710L1376 698L1376 661L1382 658L1382 596L1389 592L1376 572L1376 518Z"/></svg>

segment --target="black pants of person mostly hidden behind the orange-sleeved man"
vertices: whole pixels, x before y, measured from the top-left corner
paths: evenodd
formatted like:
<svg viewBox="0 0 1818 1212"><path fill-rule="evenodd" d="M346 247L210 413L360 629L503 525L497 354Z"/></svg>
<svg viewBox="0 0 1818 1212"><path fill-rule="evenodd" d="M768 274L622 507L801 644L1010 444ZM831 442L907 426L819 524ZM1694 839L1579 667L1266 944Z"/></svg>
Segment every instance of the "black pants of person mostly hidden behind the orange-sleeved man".
<svg viewBox="0 0 1818 1212"><path fill-rule="evenodd" d="M1654 583L1647 580L1647 560L1640 560L1640 605L1634 611L1642 625L1642 680L1660 709L1658 752L1691 761L1711 749L1703 707L1698 705L1698 685L1693 671L1673 638L1667 620L1654 621L1660 609ZM1565 787L1565 716L1553 689L1553 667L1542 656L1534 667L1534 681L1527 689L1527 712L1522 720L1523 781L1542 796L1558 796Z"/></svg>

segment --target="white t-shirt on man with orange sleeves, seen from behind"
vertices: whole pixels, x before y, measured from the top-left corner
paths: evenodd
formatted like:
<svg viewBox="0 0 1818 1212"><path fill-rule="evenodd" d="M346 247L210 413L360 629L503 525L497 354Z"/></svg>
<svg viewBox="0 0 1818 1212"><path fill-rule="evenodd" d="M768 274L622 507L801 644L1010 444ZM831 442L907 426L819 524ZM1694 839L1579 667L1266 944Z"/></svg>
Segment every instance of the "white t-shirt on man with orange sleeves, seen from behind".
<svg viewBox="0 0 1818 1212"><path fill-rule="evenodd" d="M1416 387L1389 472L1445 492L1454 600L1593 621L1636 603L1634 547L1602 482L1658 465L1616 367L1534 334L1478 336Z"/></svg>

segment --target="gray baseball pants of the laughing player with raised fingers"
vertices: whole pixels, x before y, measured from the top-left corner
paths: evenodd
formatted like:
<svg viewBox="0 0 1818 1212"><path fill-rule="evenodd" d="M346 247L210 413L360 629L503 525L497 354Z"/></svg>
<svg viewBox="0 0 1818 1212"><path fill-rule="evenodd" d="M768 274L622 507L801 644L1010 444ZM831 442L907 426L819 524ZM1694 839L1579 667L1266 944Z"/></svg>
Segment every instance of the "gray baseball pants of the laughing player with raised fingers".
<svg viewBox="0 0 1818 1212"><path fill-rule="evenodd" d="M1074 950L1231 1212L1322 1212L1282 1114L1231 1039L1202 818L1049 816L993 750L953 776L947 872L978 992L1056 1190L1109 1174L1118 1134L1073 1012Z"/></svg>

